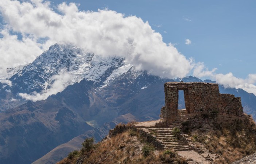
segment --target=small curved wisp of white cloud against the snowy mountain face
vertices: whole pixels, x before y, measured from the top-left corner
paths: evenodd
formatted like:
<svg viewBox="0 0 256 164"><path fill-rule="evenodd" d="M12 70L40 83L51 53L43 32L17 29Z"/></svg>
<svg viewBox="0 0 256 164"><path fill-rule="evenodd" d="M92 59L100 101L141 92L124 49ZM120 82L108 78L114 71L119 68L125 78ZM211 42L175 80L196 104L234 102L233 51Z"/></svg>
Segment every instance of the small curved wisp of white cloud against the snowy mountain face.
<svg viewBox="0 0 256 164"><path fill-rule="evenodd" d="M58 92L63 91L67 87L67 82L70 81L70 74L68 74L66 71L61 71L59 75L54 75L53 79L55 80L54 83L51 85L50 89L44 90L42 93L19 93L19 96L26 99L26 100L32 100L32 101L39 101L44 100L47 97L49 97L52 94L56 94Z"/></svg>

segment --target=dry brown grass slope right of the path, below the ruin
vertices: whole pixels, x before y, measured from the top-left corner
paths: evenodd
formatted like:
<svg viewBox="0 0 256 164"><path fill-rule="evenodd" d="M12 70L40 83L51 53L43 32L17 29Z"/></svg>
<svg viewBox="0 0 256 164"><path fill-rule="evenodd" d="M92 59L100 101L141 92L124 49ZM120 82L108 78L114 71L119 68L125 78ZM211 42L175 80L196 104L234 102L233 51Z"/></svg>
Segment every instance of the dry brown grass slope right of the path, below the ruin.
<svg viewBox="0 0 256 164"><path fill-rule="evenodd" d="M237 119L232 124L215 125L214 130L191 132L191 140L205 145L220 157L216 163L232 163L256 152L256 125L250 117Z"/></svg>

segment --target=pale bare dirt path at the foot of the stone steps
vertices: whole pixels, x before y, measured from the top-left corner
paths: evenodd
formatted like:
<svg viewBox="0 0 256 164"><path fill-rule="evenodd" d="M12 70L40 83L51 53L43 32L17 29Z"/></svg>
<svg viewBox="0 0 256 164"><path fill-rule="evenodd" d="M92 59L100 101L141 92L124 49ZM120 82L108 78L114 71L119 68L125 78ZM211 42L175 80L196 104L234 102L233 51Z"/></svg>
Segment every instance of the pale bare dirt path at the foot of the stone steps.
<svg viewBox="0 0 256 164"><path fill-rule="evenodd" d="M211 164L209 161L205 160L205 158L199 155L197 152L190 151L177 151L178 155L185 157L186 159L192 159L199 164Z"/></svg>

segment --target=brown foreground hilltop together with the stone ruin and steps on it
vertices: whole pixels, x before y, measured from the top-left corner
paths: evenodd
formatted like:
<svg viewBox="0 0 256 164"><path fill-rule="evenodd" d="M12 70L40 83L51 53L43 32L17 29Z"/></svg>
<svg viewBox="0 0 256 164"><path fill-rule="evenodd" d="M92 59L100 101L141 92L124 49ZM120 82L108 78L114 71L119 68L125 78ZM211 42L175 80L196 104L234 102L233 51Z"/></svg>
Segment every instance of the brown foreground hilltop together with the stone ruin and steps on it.
<svg viewBox="0 0 256 164"><path fill-rule="evenodd" d="M178 110L179 90L184 91L183 110ZM60 164L222 164L256 152L256 125L243 113L240 97L221 94L217 84L202 82L167 82L164 93L159 120L118 125L96 145L93 138L86 139L80 151L71 152Z"/></svg>

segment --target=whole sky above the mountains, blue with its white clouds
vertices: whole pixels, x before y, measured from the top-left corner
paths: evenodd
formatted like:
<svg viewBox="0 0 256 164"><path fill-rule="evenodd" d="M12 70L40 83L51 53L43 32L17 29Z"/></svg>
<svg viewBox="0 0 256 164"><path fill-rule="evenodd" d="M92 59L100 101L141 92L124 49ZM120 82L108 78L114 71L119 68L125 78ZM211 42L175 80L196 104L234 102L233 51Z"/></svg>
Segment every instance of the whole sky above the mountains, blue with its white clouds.
<svg viewBox="0 0 256 164"><path fill-rule="evenodd" d="M71 42L160 77L194 75L256 94L255 8L252 0L0 0L0 75Z"/></svg>

